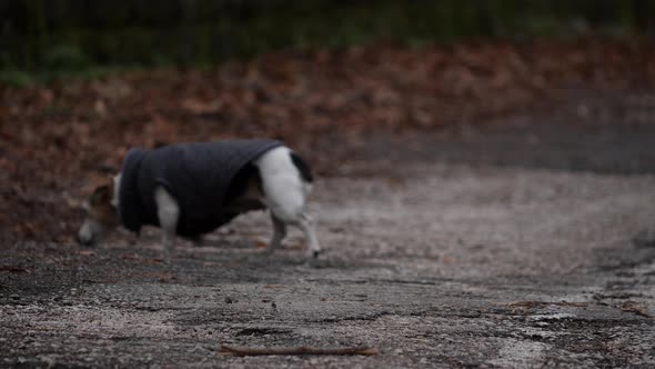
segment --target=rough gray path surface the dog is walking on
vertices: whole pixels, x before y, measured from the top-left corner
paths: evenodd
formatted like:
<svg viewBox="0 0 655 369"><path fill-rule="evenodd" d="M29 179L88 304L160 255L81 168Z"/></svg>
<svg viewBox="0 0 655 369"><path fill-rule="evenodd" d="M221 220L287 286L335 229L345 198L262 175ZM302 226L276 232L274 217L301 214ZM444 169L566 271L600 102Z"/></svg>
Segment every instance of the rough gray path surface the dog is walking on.
<svg viewBox="0 0 655 369"><path fill-rule="evenodd" d="M621 111L606 119L632 119ZM653 367L655 128L524 118L372 142L315 188L326 252L312 265L299 232L271 257L253 247L263 213L171 266L155 233L4 247L0 366ZM381 355L230 358L220 343Z"/></svg>

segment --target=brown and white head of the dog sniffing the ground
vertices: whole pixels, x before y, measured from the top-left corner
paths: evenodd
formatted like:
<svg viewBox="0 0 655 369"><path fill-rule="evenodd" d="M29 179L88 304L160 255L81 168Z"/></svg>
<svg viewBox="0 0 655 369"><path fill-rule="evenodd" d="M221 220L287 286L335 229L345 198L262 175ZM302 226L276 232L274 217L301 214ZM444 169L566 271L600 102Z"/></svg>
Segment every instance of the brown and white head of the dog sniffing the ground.
<svg viewBox="0 0 655 369"><path fill-rule="evenodd" d="M113 201L114 183L99 186L84 202L87 212L78 231L78 241L84 246L94 246L109 231L119 225L119 216Z"/></svg>

